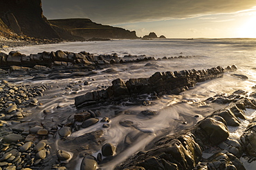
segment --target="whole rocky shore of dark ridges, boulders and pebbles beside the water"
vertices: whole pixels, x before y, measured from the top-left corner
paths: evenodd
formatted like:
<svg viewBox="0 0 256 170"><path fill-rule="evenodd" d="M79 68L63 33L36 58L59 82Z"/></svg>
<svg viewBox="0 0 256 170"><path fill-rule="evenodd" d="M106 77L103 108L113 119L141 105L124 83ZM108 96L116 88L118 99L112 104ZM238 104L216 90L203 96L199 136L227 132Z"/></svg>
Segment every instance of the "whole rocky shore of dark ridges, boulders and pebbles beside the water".
<svg viewBox="0 0 256 170"><path fill-rule="evenodd" d="M78 94L82 87L89 87L88 81L63 85L23 85L15 81L22 79L21 73L30 81L65 80L97 74L95 70L103 68L111 72L111 65L172 62L189 60L192 56L154 59L127 55L121 58L116 54L93 55L59 50L29 56L19 52L1 53L0 57L1 169L101 169L102 165L118 158L119 153L138 138L138 135L131 133L125 137L124 145L115 145L104 138L105 129L110 129L116 123L122 128L134 128L140 136L152 133L130 120L112 121L124 112L131 114L122 107L154 105L155 100L166 94L179 95L199 83L221 78L225 72L237 70L232 65L225 70L218 66L205 70L156 72L148 78L130 78L128 81L117 78L109 87ZM17 79L10 79L10 82L4 80L9 77ZM240 78L244 76L240 75ZM46 101L63 100L51 93L73 89L66 93L71 95L70 99L63 101L72 104L66 107L44 105ZM246 109L256 109L254 96L243 90L209 96L202 103L218 103L223 105L222 109L208 113L195 125L183 127L176 134L152 138L145 150L120 162L116 169L245 169L239 158L248 157L250 161L256 155L255 120L246 116ZM106 108L111 109L113 115L105 114ZM158 116L157 111L150 109L132 114L147 119ZM244 120L250 121L244 134L238 140L230 138L229 127L240 127ZM187 123L184 121L182 124ZM205 158L205 154L210 156Z"/></svg>

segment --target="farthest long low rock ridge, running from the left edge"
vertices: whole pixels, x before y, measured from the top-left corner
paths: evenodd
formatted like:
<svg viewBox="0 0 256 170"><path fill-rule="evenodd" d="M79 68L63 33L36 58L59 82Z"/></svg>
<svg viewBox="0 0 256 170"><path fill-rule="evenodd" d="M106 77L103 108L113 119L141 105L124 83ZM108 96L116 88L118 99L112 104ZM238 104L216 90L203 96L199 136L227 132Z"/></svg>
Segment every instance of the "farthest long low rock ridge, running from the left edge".
<svg viewBox="0 0 256 170"><path fill-rule="evenodd" d="M174 56L163 57L157 60L170 59L188 59L194 56ZM30 54L29 56L21 54L20 52L12 51L9 54L0 52L0 67L8 69L10 66L29 67L37 70L35 66L71 66L71 65L105 65L115 63L137 63L140 61L155 61L152 56L124 56L118 57L117 54L101 54L93 55L89 52L63 52L57 50L56 52L40 52L37 54ZM29 70L29 68L27 68ZM25 68L20 68L25 69ZM17 70L20 71L20 70Z"/></svg>

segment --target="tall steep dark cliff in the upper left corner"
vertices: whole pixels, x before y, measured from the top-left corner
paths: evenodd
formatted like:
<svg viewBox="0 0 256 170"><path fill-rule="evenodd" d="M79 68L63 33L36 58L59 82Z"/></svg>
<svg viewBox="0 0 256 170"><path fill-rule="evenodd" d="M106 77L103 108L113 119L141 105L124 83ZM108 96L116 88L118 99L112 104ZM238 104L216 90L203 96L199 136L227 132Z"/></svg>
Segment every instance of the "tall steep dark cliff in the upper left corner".
<svg viewBox="0 0 256 170"><path fill-rule="evenodd" d="M12 32L39 39L60 39L43 15L41 0L1 0L0 6L0 19Z"/></svg>

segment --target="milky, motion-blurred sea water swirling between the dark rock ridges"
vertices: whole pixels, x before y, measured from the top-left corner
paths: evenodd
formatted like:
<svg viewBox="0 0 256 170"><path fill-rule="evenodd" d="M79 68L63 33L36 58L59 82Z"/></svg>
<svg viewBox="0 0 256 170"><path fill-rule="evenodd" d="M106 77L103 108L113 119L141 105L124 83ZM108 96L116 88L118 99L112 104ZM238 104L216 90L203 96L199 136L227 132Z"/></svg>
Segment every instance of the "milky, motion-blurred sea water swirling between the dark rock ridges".
<svg viewBox="0 0 256 170"><path fill-rule="evenodd" d="M104 131L104 138L115 146L124 145L127 136L134 136L132 144L116 153L113 159L100 164L101 169L113 169L117 164L125 161L129 156L137 151L147 149L147 145L156 138L174 134L181 129L192 127L196 122L210 115L213 111L225 107L225 105L207 105L204 100L216 94L232 94L237 89L247 92L254 92L252 87L256 85L256 39L153 39L153 40L111 40L111 41L84 41L84 42L63 42L47 45L33 45L26 47L15 47L21 54L37 54L38 52L51 52L62 50L64 52L89 52L91 54L118 54L120 57L127 55L152 56L155 59L164 56L192 56L188 59L156 60L140 63L126 63L111 65L103 70L96 70L96 74L88 77L66 78L59 80L33 81L32 78L25 78L16 83L44 84L50 83L60 85L60 88L51 93L55 98L43 98L44 109L53 112L51 117L44 116L43 109L37 116L30 116L28 120L59 119L64 121L71 114L75 113L73 107L75 96L92 92L97 89L104 89L111 85L111 81L122 78L123 81L129 78L148 78L155 72L181 71L181 70L201 70L220 65L225 68L228 65L236 65L235 72L225 72L223 78L216 78L211 81L198 83L195 87L179 95L165 95L158 100L152 101L149 106L119 105L122 109L129 110L130 114L120 114L116 116L115 107L99 107L102 116L111 118L111 127L102 129L102 124L98 123L92 127L80 129L71 134L78 137L98 129ZM109 70L111 68L111 70ZM241 78L234 76L239 74L247 76ZM15 79L15 78L14 78ZM77 93L67 92L64 85L68 83L89 81L89 86L82 86ZM63 87L63 88L61 88ZM187 101L183 103L182 101ZM55 108L61 106L60 111ZM157 111L158 115L153 118L142 118L136 113L143 110ZM33 111L33 110L32 110ZM135 114L134 114L135 113ZM61 114L61 116L60 116ZM196 116L197 115L197 116ZM196 116L196 117L195 117ZM246 110L248 120L241 120L240 127L228 127L230 138L239 140L239 136L249 124L250 119L256 116L254 110ZM129 120L134 127L123 127L120 121ZM55 146L58 148L58 141ZM67 146L68 147L68 146ZM122 148L122 147L120 147ZM63 149L63 148L58 148ZM64 148L66 149L66 148ZM94 151L93 156L97 156L99 151ZM205 153L208 157L208 153ZM254 169L255 161L248 163L246 158L241 158L246 169ZM80 169L82 158L77 158L76 169Z"/></svg>

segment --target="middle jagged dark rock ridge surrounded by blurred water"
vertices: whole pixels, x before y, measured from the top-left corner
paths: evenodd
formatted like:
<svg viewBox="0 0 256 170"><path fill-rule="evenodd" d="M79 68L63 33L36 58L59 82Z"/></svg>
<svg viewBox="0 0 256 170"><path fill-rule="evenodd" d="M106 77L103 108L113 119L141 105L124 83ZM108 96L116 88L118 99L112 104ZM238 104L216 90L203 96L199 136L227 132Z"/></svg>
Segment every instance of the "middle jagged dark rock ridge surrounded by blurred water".
<svg viewBox="0 0 256 170"><path fill-rule="evenodd" d="M112 81L112 86L107 89L77 96L75 105L82 107L96 103L123 100L140 94L152 94L154 97L163 94L179 94L190 87L194 87L196 83L223 76L223 71L223 68L218 66L208 70L156 72L149 78L131 78L127 82L118 78Z"/></svg>

